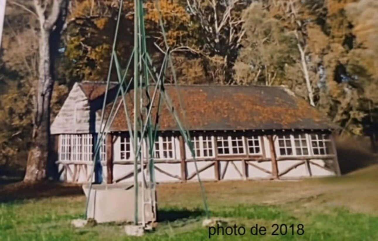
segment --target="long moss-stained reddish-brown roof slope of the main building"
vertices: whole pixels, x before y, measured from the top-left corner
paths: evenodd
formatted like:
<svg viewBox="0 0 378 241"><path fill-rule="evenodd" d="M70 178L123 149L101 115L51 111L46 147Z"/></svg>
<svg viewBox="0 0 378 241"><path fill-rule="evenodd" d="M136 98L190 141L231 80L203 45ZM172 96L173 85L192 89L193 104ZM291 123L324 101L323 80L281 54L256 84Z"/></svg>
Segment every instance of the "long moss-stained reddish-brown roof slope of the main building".
<svg viewBox="0 0 378 241"><path fill-rule="evenodd" d="M165 85L164 87L172 100L174 111L178 113L187 130L337 128L324 114L283 87L212 85ZM153 87L150 87L151 98L152 93ZM133 90L125 94L129 113L133 111L133 96ZM156 118L158 99L159 94L156 95L153 103L153 120ZM121 100L121 97L116 100L116 106ZM147 105L147 103L143 104ZM109 115L111 106L112 103L107 105L105 117ZM158 119L159 130L179 130L164 101L161 107ZM130 118L133 120L133 113L130 114ZM127 130L123 106L119 108L110 130Z"/></svg>

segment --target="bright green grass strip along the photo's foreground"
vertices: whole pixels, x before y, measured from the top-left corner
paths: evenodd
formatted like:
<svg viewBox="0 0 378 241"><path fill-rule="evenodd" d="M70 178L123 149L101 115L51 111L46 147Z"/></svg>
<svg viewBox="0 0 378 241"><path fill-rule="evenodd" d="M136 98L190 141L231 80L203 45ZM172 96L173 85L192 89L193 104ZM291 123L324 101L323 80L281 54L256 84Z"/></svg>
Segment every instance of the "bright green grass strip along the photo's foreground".
<svg viewBox="0 0 378 241"><path fill-rule="evenodd" d="M193 211L194 216L163 222L153 233L142 238L124 236L121 225L97 225L76 229L70 221L82 214L79 203L57 200L39 200L7 203L0 206L0 240L206 240L209 228L201 227L202 216L197 210L180 207L162 207L160 211ZM81 203L80 203L81 204ZM60 205L63 205L60 206ZM65 213L64 210L68 212ZM218 206L212 209L212 216L222 217L224 227L245 227L245 235L213 235L212 240L251 240L250 227L265 226L266 235L259 240L378 240L378 217L369 214L351 213L342 208L328 210L327 213L309 211L300 215L290 210L272 205ZM286 235L272 236L273 224L294 224L294 235L288 228ZM303 235L297 234L297 225L304 225ZM221 230L220 230L221 231ZM277 232L279 233L279 232ZM222 233L220 233L222 234Z"/></svg>

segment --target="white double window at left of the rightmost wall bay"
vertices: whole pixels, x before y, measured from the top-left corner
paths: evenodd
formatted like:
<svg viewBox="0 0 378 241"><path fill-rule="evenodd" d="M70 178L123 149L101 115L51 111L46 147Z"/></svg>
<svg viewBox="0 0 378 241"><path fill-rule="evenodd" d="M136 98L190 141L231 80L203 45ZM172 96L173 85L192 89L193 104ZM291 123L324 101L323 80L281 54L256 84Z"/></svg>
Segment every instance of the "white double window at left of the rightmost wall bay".
<svg viewBox="0 0 378 241"><path fill-rule="evenodd" d="M296 144L295 144L295 141L296 140L298 140L298 136L300 136L300 135L305 135L305 141L306 141L306 145L307 146L302 146L302 143L301 143L301 145L300 146L296 146ZM288 138L287 138L287 136L289 136ZM280 137L283 137L283 138L280 138ZM288 156L288 157L290 157L290 156L311 156L312 155L312 152L311 152L311 148L310 148L310 142L309 142L309 136L308 136L308 134L305 134L305 133L301 133L301 134L282 134L282 135L276 135L275 136L275 141L274 141L274 146L275 146L275 148L276 148L276 154L277 154L277 156ZM280 140L283 140L284 141L284 146L280 146L279 145L279 141ZM289 140L290 142L290 147L288 147L288 146L286 146L286 141L287 140ZM302 140L302 139L300 139L300 140ZM285 149L285 154L281 154L281 150L280 149ZM288 148L290 148L290 150L291 150L291 153L292 154L287 154L287 150L288 150ZM302 153L297 153L297 148L299 148L299 149L301 149L301 152L303 152L303 148L306 148L307 149L307 154L305 155L305 154L302 154Z"/></svg>

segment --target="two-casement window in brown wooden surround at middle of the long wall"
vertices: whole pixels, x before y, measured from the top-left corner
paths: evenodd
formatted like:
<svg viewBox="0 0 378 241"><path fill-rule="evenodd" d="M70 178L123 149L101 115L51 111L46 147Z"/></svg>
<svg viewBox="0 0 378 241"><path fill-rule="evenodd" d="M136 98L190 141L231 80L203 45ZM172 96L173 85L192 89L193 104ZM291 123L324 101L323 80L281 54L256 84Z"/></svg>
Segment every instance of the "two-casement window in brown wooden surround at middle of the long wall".
<svg viewBox="0 0 378 241"><path fill-rule="evenodd" d="M218 148L218 155L245 154L243 137L218 136L217 148Z"/></svg>

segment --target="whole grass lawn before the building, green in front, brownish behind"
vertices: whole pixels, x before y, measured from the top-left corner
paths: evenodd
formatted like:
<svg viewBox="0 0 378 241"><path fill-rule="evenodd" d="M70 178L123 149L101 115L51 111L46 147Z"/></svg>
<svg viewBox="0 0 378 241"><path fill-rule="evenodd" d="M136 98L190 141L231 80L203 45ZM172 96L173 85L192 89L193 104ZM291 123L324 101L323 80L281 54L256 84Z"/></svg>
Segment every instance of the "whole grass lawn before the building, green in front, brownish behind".
<svg viewBox="0 0 378 241"><path fill-rule="evenodd" d="M78 187L8 186L0 187L1 241L209 239L209 228L201 227L204 212L198 183L158 185L161 221L155 232L142 238L125 236L122 225L71 227L71 220L81 218L85 209ZM342 177L208 182L205 189L211 216L226 219L224 227L245 228L244 235L215 234L212 240L378 240L378 165ZM26 190L39 198L22 196ZM18 200L6 201L12 195ZM286 224L286 235L278 229L279 235L272 236L274 224ZM266 234L252 236L250 228L256 225L266 227ZM281 232L285 233L285 225Z"/></svg>

